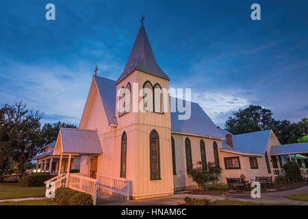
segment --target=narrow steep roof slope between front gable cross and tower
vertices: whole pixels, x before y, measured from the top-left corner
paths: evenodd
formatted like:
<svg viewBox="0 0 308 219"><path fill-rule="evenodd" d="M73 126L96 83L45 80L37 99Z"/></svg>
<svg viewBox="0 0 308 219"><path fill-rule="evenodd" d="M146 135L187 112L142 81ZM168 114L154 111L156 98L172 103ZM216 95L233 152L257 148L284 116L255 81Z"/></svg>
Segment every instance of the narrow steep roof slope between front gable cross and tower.
<svg viewBox="0 0 308 219"><path fill-rule="evenodd" d="M97 83L97 89L101 96L105 114L107 116L108 123L117 125L116 120L116 85L114 80L107 79L105 77L94 76L94 80Z"/></svg>

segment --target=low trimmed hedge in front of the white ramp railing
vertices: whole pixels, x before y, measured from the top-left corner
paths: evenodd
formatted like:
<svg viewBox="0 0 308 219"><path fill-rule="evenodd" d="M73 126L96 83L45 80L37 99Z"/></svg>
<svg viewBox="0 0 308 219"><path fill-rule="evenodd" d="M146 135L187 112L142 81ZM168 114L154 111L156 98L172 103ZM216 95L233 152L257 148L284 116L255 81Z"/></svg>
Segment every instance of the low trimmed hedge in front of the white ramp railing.
<svg viewBox="0 0 308 219"><path fill-rule="evenodd" d="M92 196L69 188L57 188L55 201L61 205L93 205Z"/></svg>

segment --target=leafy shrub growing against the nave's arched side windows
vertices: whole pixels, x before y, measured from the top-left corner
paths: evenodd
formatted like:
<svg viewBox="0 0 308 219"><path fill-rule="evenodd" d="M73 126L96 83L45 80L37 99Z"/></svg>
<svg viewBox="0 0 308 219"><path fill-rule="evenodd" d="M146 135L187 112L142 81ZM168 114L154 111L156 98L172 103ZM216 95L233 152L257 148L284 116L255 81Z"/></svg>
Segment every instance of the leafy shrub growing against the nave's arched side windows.
<svg viewBox="0 0 308 219"><path fill-rule="evenodd" d="M199 190L204 190L207 183L212 183L215 187L219 181L222 169L219 166L215 166L214 163L207 163L207 170L202 168L202 163L198 162L196 168L192 168L188 173L188 176L192 181L198 184Z"/></svg>

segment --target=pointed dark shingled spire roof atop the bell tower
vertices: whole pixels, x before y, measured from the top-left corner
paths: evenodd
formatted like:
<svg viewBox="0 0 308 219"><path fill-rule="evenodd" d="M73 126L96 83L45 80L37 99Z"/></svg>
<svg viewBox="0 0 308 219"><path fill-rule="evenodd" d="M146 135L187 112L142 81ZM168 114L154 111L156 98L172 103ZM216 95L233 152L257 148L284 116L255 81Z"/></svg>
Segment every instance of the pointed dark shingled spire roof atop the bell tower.
<svg viewBox="0 0 308 219"><path fill-rule="evenodd" d="M127 60L127 64L123 70L122 75L118 78L116 83L122 81L127 77L133 70L142 70L145 73L155 75L157 77L162 77L164 79L170 80L168 75L159 68L158 64L155 61L151 45L146 36L146 31L144 26L140 27L139 33L133 44L133 49L131 49L131 54Z"/></svg>

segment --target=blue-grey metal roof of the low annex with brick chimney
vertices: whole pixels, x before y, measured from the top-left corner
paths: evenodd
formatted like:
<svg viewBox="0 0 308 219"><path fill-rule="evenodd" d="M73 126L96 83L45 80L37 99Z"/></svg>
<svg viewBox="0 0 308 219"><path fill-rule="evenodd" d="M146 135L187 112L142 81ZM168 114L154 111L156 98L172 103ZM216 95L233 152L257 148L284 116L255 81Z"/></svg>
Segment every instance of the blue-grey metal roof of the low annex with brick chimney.
<svg viewBox="0 0 308 219"><path fill-rule="evenodd" d="M255 131L240 135L233 135L233 148L227 144L227 140L222 140L222 151L253 153L264 155L270 139L271 129L265 131Z"/></svg>

